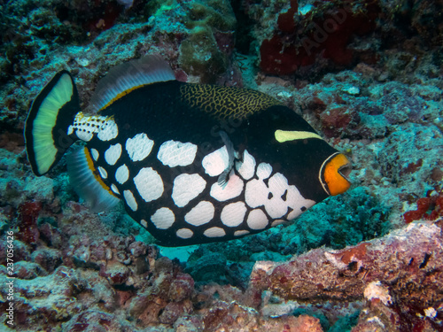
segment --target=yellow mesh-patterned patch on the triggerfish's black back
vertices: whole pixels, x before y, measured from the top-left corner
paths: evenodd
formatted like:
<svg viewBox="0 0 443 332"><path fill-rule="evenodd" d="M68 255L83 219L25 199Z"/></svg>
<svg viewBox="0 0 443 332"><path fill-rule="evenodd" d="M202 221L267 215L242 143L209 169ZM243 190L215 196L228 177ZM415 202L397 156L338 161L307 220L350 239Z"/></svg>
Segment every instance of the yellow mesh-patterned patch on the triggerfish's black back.
<svg viewBox="0 0 443 332"><path fill-rule="evenodd" d="M180 92L183 103L210 113L218 120L245 119L254 112L281 104L273 97L252 89L184 84Z"/></svg>

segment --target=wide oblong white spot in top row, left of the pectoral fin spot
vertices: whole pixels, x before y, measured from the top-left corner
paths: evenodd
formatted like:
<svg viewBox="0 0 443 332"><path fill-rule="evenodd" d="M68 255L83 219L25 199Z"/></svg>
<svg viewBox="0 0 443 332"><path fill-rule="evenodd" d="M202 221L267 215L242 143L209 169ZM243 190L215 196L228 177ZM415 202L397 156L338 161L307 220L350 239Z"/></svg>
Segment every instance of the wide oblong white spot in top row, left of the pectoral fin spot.
<svg viewBox="0 0 443 332"><path fill-rule="evenodd" d="M157 158L165 166L188 166L194 162L197 153L197 145L167 141L161 144Z"/></svg>

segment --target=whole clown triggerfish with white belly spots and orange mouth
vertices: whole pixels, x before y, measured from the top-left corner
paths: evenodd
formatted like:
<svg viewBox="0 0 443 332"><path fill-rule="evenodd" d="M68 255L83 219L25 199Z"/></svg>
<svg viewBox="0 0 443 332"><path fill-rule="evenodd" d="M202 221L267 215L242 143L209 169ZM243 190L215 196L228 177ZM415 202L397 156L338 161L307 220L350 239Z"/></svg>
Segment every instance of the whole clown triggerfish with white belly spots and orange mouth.
<svg viewBox="0 0 443 332"><path fill-rule="evenodd" d="M161 58L114 67L80 112L73 77L57 73L25 127L40 176L66 157L91 208L124 202L166 246L240 238L293 220L349 189L349 160L297 113L251 89L175 80Z"/></svg>

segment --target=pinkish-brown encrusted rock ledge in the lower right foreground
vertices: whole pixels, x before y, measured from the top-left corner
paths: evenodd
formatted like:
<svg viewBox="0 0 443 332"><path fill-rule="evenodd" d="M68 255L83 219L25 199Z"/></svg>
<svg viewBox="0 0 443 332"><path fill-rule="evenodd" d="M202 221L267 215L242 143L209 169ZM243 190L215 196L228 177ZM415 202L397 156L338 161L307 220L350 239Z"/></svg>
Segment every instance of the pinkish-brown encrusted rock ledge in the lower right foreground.
<svg viewBox="0 0 443 332"><path fill-rule="evenodd" d="M442 227L443 220L410 224L340 251L315 249L284 263L260 261L251 284L295 303L365 298L353 331L423 330L418 328L424 325L438 331L443 318Z"/></svg>

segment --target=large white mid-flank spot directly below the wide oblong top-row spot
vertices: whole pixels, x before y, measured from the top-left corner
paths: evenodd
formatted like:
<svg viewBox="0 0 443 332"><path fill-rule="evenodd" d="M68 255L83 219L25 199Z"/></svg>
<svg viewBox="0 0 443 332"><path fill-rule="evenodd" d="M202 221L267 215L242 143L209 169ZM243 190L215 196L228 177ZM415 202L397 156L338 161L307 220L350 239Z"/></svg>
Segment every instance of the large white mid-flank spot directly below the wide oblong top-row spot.
<svg viewBox="0 0 443 332"><path fill-rule="evenodd" d="M175 205L183 207L198 197L205 189L206 181L198 174L180 174L174 180L172 199Z"/></svg>

